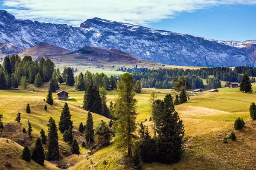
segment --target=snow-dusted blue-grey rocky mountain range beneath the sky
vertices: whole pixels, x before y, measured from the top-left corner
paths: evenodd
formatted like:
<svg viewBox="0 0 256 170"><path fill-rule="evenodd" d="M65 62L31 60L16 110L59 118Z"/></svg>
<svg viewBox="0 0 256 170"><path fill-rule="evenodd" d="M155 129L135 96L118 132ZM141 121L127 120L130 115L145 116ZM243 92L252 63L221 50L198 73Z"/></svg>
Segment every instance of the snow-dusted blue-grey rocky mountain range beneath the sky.
<svg viewBox="0 0 256 170"><path fill-rule="evenodd" d="M100 18L88 19L80 27L73 27L17 20L4 10L0 16L0 52L3 54L8 54L5 51L19 54L45 42L65 48L67 52L85 46L118 49L139 59L169 65L256 66L256 40L212 40Z"/></svg>

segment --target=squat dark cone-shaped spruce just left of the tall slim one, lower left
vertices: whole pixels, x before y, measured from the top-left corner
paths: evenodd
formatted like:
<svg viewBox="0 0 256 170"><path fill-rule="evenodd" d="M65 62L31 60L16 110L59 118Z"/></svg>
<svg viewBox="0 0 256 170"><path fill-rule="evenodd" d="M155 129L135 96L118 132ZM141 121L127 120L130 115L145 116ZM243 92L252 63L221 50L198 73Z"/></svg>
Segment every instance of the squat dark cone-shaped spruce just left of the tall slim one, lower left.
<svg viewBox="0 0 256 170"><path fill-rule="evenodd" d="M44 153L44 147L42 145L41 139L36 139L35 146L32 151L32 159L40 164L41 166L44 166L44 159L45 159L45 153Z"/></svg>

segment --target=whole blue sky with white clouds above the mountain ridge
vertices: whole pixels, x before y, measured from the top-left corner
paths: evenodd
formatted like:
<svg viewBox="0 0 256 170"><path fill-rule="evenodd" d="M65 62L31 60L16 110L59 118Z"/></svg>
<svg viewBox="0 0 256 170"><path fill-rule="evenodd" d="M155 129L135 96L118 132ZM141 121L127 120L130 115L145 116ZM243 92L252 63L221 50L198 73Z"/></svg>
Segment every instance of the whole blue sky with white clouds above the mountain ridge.
<svg viewBox="0 0 256 170"><path fill-rule="evenodd" d="M256 40L256 0L0 0L0 9L72 26L99 17L215 40Z"/></svg>

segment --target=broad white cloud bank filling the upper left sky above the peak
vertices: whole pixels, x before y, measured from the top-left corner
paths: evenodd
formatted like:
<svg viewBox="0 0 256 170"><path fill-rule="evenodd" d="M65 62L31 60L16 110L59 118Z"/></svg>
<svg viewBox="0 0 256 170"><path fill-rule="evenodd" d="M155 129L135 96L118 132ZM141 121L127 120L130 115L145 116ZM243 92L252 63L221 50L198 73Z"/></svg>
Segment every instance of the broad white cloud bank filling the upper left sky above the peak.
<svg viewBox="0 0 256 170"><path fill-rule="evenodd" d="M18 19L79 26L88 18L99 17L146 26L148 23L175 17L213 6L246 4L256 0L4 0Z"/></svg>

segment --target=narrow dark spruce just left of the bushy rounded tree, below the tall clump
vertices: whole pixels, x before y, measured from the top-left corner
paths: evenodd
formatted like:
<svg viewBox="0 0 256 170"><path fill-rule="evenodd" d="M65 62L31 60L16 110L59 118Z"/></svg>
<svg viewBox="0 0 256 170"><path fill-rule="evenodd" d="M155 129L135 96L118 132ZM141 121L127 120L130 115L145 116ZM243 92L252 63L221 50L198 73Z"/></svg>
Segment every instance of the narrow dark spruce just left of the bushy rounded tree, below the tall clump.
<svg viewBox="0 0 256 170"><path fill-rule="evenodd" d="M93 130L93 115L88 111L87 120L86 120L86 128L85 128L85 140L90 146L94 144L94 130Z"/></svg>

